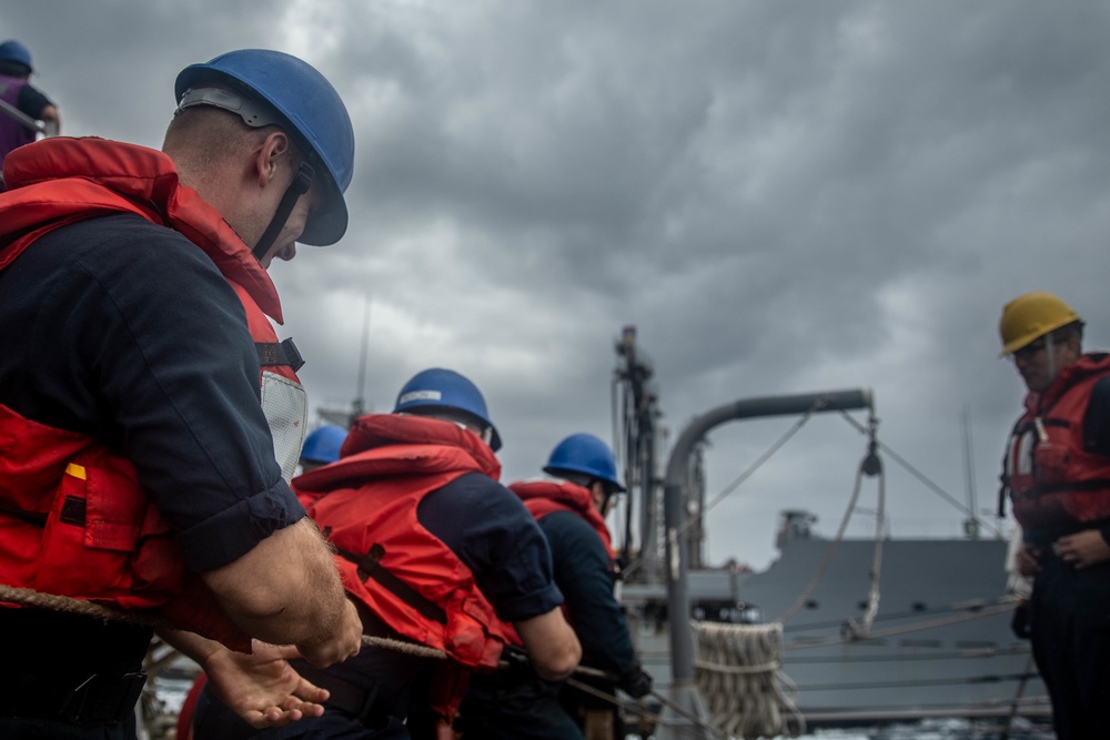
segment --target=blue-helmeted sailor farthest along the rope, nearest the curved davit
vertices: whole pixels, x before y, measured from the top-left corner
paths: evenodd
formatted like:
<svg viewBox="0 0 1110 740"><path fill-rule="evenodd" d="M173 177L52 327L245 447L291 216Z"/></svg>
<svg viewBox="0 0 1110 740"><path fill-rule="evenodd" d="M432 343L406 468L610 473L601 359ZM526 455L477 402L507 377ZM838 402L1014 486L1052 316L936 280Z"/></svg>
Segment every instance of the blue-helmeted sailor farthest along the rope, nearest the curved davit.
<svg viewBox="0 0 1110 740"><path fill-rule="evenodd" d="M614 596L615 557L605 515L613 495L625 487L613 452L593 435L574 434L552 450L544 473L553 478L514 483L509 489L547 537L583 666L613 677L581 680L607 695L619 688L638 699L652 690L652 677L640 668ZM463 727L467 737L506 740L625 737L612 702L545 681L524 666L475 676L463 704Z"/></svg>

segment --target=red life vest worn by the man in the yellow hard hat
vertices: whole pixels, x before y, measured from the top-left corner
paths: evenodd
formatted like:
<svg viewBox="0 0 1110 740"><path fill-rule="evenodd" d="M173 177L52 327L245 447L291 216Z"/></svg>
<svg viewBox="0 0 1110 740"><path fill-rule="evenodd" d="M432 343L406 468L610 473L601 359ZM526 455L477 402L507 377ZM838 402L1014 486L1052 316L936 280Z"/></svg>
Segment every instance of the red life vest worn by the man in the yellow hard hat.
<svg viewBox="0 0 1110 740"><path fill-rule="evenodd" d="M1110 458L1083 449L1083 417L1110 356L1089 354L1029 394L1010 435L1002 485L1027 530L1110 519Z"/></svg>

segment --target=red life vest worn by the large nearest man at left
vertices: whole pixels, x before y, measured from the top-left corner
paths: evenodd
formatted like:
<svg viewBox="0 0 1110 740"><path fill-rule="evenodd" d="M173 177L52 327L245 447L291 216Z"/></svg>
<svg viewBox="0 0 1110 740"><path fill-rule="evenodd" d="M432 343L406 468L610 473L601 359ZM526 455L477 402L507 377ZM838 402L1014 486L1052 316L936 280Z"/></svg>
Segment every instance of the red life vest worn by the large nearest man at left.
<svg viewBox="0 0 1110 740"><path fill-rule="evenodd" d="M42 235L97 216L133 213L180 232L204 251L234 288L263 361L263 396L303 389L266 315L281 321L276 290L220 214L180 184L155 150L101 139L54 138L4 160L0 270ZM3 236L7 236L4 240ZM286 442L304 433L280 398L268 413ZM292 408L292 413L290 413ZM295 464L295 454L289 470ZM285 465L283 464L283 468ZM89 435L56 429L0 405L0 579L8 586L155 610L181 629L250 650L250 638L203 581L185 571L169 526L139 485L132 464Z"/></svg>

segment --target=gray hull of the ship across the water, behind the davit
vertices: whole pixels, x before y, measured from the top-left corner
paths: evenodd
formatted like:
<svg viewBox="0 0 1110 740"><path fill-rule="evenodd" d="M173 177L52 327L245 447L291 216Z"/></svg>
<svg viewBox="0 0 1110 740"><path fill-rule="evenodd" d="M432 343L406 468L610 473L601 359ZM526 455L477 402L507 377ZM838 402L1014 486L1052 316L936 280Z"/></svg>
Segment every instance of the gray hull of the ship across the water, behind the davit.
<svg viewBox="0 0 1110 740"><path fill-rule="evenodd" d="M694 617L777 620L817 575L830 547L794 539L757 574L690 574ZM870 540L844 540L804 605L784 624L783 670L797 687L807 723L836 724L924 717L1046 717L1043 683L1029 643L1010 630L1006 543L885 540L879 609L869 637L845 640L847 620L862 620L870 588ZM669 681L665 595L626 586L640 614L637 637L657 686Z"/></svg>

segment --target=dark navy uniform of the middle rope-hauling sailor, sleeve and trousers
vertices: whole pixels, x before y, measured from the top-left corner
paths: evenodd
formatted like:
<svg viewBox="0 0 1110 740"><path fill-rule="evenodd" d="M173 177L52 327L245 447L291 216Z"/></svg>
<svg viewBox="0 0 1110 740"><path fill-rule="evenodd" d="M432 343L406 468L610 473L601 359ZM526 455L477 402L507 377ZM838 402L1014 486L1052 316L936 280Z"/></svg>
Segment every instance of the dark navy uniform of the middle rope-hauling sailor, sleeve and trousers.
<svg viewBox="0 0 1110 740"><path fill-rule="evenodd" d="M441 539L473 572L482 592L505 621L523 621L549 612L563 602L552 577L547 541L521 500L501 484L478 473L455 478L428 494L417 508L420 523ZM367 609L361 609L366 632L397 637ZM403 639L403 638L397 638ZM327 707L323 717L302 719L283 728L254 730L205 688L196 702L195 740L402 740L421 737L426 718L408 714L424 699L423 681L434 659L386 648L365 647L327 673L360 687L367 696L363 716ZM303 661L294 667L309 680L320 673ZM481 737L481 736L470 736Z"/></svg>

